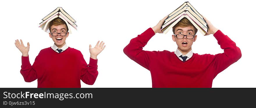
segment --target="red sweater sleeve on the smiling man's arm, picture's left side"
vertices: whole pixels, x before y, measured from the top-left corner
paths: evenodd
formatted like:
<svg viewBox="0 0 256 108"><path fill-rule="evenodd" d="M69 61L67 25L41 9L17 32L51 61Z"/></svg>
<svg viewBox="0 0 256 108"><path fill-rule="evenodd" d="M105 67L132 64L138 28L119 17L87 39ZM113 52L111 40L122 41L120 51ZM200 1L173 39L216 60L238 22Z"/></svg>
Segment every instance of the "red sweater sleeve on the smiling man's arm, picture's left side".
<svg viewBox="0 0 256 108"><path fill-rule="evenodd" d="M21 57L22 65L21 65L20 73L26 82L32 82L37 79L37 74L36 74L36 69L35 69L36 65L37 65L37 57L35 58L35 62L33 64L33 66L31 66L31 64L29 62L29 56Z"/></svg>

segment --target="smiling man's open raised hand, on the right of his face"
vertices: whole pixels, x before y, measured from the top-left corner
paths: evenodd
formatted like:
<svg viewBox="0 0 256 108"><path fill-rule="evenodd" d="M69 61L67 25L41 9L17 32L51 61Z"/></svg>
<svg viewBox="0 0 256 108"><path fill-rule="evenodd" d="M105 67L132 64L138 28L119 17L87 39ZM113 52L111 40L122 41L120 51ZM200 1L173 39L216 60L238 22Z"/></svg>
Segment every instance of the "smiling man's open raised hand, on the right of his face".
<svg viewBox="0 0 256 108"><path fill-rule="evenodd" d="M105 43L103 43L103 41L101 41L99 43L99 41L97 42L96 46L94 48L92 48L92 45L89 45L89 51L90 51L90 57L92 59L97 59L97 55L106 47L106 45L104 46Z"/></svg>

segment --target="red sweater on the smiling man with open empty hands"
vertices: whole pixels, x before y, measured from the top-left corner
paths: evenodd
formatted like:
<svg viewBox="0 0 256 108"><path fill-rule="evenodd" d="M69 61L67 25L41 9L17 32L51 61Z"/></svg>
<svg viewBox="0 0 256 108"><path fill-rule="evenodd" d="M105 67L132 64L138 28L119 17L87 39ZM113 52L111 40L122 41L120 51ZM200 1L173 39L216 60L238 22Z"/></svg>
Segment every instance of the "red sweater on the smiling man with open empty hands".
<svg viewBox="0 0 256 108"><path fill-rule="evenodd" d="M57 53L51 47L42 49L33 66L29 57L22 56L20 73L26 82L38 79L38 87L81 87L80 79L93 85L97 71L97 60L90 58L87 65L80 51L68 47Z"/></svg>

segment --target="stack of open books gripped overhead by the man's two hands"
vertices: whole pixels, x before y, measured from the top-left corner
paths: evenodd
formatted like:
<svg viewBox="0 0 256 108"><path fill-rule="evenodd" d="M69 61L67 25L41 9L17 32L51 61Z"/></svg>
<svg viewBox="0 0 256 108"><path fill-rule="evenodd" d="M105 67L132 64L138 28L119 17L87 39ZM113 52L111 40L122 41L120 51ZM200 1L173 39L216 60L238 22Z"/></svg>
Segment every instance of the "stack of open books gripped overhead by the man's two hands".
<svg viewBox="0 0 256 108"><path fill-rule="evenodd" d="M166 34L182 18L187 18L203 35L207 33L208 26L205 20L189 2L183 3L179 8L168 15L168 18L166 18L161 28L163 33Z"/></svg>

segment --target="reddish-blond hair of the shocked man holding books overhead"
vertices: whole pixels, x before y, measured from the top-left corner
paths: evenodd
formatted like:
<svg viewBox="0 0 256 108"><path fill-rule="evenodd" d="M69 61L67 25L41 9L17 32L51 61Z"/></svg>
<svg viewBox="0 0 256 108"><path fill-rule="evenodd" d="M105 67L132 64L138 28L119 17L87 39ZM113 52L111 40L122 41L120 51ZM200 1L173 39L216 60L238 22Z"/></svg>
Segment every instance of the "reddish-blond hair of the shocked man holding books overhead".
<svg viewBox="0 0 256 108"><path fill-rule="evenodd" d="M176 25L173 26L173 33L175 32L175 28L176 27L188 27L188 26L194 27L194 29L195 29L194 32L196 34L197 29L195 28L195 26L187 18L182 18Z"/></svg>

